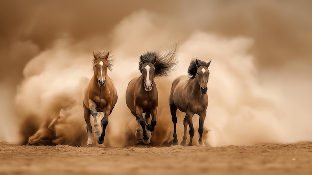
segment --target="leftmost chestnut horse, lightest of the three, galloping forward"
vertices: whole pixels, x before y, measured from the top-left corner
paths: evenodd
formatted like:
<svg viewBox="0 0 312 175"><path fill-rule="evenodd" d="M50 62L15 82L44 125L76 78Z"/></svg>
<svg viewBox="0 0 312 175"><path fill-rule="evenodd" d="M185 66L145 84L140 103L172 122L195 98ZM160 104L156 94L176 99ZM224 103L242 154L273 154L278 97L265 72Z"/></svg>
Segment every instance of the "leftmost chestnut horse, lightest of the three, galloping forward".
<svg viewBox="0 0 312 175"><path fill-rule="evenodd" d="M106 74L107 69L112 70L114 61L108 55L109 52L93 53L94 75L86 86L83 95L83 110L88 133L87 147L92 147L90 114L94 118L95 136L99 136L97 142L102 144L104 142L105 129L108 124L108 116L111 114L117 102L116 88L111 78ZM104 117L101 120L102 133L96 119L98 112L104 113Z"/></svg>

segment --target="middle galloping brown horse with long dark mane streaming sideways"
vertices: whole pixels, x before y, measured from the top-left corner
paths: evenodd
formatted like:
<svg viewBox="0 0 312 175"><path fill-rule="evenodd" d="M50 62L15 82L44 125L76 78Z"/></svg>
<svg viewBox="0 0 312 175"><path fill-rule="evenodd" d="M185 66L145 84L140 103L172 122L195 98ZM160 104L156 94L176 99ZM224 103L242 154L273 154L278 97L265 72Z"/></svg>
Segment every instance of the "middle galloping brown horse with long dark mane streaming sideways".
<svg viewBox="0 0 312 175"><path fill-rule="evenodd" d="M137 141L143 139L144 144L149 144L151 132L154 131L157 123L158 91L154 78L169 76L176 65L176 45L166 54L160 54L159 51L148 51L140 56L139 71L141 75L133 78L126 89L127 107L137 120L135 133ZM143 113L146 113L144 118ZM151 123L148 123L150 115L152 115L152 120Z"/></svg>

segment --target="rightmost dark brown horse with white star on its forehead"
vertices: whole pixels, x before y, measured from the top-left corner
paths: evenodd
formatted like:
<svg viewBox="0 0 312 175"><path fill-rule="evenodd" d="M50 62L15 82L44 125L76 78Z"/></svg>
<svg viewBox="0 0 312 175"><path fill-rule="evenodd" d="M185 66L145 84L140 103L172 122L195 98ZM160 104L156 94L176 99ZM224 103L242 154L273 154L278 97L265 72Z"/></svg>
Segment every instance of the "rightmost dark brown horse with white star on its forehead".
<svg viewBox="0 0 312 175"><path fill-rule="evenodd" d="M184 135L180 145L186 145L186 129L189 125L190 140L188 145L192 146L194 127L193 127L193 115L199 115L199 145L203 145L202 133L204 131L204 120L206 118L206 110L208 107L208 95L207 95L207 83L209 80L209 70L211 60L206 63L200 59L192 59L188 67L188 75L191 76L180 76L172 82L172 87L169 96L170 112L172 115L173 122L173 145L178 144L176 135L176 111L186 113L184 118Z"/></svg>

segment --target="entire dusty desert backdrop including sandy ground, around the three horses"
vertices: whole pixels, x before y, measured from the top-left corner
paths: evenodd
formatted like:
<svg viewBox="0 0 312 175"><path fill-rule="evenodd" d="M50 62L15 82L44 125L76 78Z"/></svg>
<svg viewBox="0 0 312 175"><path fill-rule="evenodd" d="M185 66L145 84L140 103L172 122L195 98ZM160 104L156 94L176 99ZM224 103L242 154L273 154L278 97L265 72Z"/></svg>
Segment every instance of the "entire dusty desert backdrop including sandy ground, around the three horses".
<svg viewBox="0 0 312 175"><path fill-rule="evenodd" d="M1 174L310 174L312 2L309 0L1 0ZM133 142L125 104L146 51L178 45L176 71L156 80L151 144ZM115 59L118 91L105 142L85 148L82 95L93 51ZM209 66L204 143L170 146L171 83L192 58ZM183 113L178 113L179 141ZM52 138L45 138L58 117ZM197 122L197 123L196 123ZM197 126L196 126L197 125ZM30 136L39 138L25 145ZM188 136L189 138L189 136Z"/></svg>

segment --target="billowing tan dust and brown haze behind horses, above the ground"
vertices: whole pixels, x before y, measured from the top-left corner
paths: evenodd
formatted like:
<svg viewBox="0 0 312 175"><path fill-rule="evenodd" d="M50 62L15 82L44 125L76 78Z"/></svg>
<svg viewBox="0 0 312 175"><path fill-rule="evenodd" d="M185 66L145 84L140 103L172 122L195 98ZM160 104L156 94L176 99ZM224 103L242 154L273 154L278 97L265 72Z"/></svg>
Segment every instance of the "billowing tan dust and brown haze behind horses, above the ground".
<svg viewBox="0 0 312 175"><path fill-rule="evenodd" d="M312 139L310 1L73 2L0 2L0 140L85 146L82 92L92 51L105 49L115 58L108 75L119 98L104 144L131 144L136 121L125 104L127 84L140 75L141 54L176 42L179 67L156 80L151 144L172 139L171 82L187 74L194 57L212 59L206 145ZM184 115L178 113L179 141Z"/></svg>

